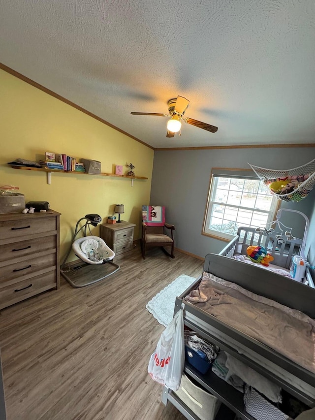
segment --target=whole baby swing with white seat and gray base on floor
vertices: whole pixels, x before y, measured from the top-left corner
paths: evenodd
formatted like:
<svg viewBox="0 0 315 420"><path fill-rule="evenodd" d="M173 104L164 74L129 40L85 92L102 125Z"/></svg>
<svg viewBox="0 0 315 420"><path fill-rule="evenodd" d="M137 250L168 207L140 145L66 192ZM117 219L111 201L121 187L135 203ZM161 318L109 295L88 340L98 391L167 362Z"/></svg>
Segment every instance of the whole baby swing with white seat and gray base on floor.
<svg viewBox="0 0 315 420"><path fill-rule="evenodd" d="M85 224L79 228L81 221ZM119 270L120 266L113 262L115 253L105 243L105 241L92 235L91 225L97 226L102 221L98 214L87 214L78 220L72 237L72 246L63 260L61 274L67 282L74 288L89 286L100 280L111 276ZM91 235L87 236L87 228ZM83 237L75 239L79 232L83 232ZM79 262L66 264L66 260L71 250L80 258ZM108 269L108 264L111 269Z"/></svg>

